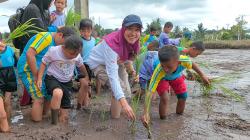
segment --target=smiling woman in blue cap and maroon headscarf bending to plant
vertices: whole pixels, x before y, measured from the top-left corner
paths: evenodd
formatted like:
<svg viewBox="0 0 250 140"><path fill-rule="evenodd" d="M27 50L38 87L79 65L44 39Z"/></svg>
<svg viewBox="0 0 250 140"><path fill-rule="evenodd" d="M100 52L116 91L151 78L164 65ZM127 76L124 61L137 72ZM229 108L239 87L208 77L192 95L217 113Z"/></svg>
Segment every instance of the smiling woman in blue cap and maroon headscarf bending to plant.
<svg viewBox="0 0 250 140"><path fill-rule="evenodd" d="M128 15L123 20L120 30L108 34L93 48L87 62L101 85L109 83L111 86L112 118L119 118L123 108L130 119L135 119L135 114L125 98L125 93L131 91L124 64L131 64L139 53L141 29L140 17Z"/></svg>

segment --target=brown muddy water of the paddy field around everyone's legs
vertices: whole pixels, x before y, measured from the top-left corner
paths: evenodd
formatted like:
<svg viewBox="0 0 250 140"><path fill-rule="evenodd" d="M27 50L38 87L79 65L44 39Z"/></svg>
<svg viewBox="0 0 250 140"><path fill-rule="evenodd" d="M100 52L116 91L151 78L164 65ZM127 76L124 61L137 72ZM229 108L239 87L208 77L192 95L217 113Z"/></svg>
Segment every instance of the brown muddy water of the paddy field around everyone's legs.
<svg viewBox="0 0 250 140"><path fill-rule="evenodd" d="M159 120L158 100L152 104L152 139L155 140L249 140L250 139L250 50L208 50L195 59L204 61L209 67L204 68L210 76L222 76L238 73L237 78L225 85L242 95L244 102L236 102L214 91L209 98L201 96L199 87L187 82L189 98L185 113L175 114L176 98L170 96L169 115L166 120ZM20 92L20 91L19 91ZM41 123L30 121L30 107L20 108L14 98L12 132L0 134L0 140L142 140L147 139L147 131L139 120L136 131L131 134L130 124L122 114L120 119L110 119L108 94L92 100L90 109L70 110L68 124L50 125L44 118ZM143 102L142 102L143 103ZM140 107L142 108L142 103ZM141 115L142 110L137 116Z"/></svg>

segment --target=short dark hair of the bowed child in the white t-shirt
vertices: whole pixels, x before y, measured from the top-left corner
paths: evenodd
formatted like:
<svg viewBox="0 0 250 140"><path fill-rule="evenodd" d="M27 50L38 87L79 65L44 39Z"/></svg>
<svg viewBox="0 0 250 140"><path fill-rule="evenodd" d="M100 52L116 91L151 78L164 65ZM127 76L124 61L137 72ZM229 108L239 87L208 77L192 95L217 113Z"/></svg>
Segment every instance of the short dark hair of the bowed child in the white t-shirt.
<svg viewBox="0 0 250 140"><path fill-rule="evenodd" d="M82 49L82 39L78 35L71 35L65 40L65 48L74 51Z"/></svg>

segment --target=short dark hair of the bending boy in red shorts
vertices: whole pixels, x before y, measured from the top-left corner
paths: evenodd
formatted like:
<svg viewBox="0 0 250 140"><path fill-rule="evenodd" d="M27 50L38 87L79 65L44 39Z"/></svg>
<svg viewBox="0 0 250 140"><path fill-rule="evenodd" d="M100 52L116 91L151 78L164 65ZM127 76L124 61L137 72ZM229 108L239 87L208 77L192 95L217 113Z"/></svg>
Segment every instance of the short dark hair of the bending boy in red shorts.
<svg viewBox="0 0 250 140"><path fill-rule="evenodd" d="M179 59L179 51L176 46L167 45L158 52L160 62L168 62L172 58Z"/></svg>

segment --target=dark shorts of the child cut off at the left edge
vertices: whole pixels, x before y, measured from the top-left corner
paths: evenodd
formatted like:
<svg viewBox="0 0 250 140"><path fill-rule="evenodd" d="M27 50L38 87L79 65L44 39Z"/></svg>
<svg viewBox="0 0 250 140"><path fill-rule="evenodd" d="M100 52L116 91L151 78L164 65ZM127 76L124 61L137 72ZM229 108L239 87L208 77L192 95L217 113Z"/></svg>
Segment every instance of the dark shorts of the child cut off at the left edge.
<svg viewBox="0 0 250 140"><path fill-rule="evenodd" d="M0 68L0 96L5 92L15 92L17 90L17 80L14 67Z"/></svg>

